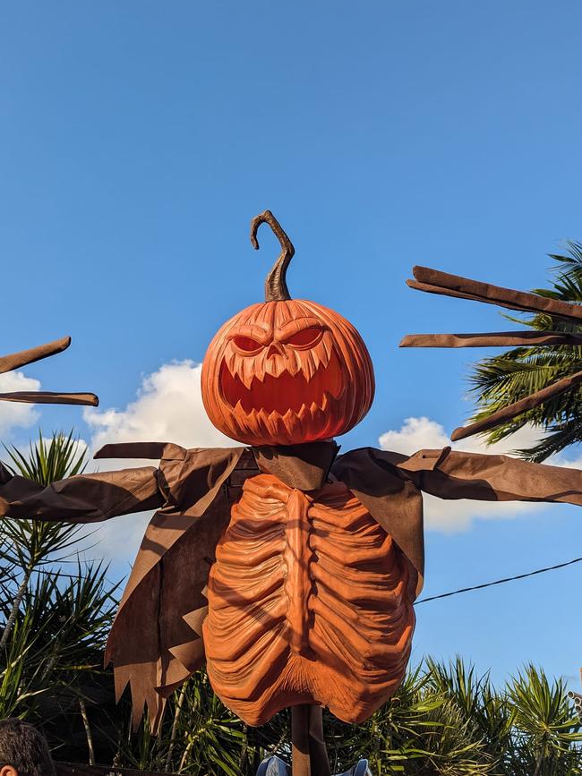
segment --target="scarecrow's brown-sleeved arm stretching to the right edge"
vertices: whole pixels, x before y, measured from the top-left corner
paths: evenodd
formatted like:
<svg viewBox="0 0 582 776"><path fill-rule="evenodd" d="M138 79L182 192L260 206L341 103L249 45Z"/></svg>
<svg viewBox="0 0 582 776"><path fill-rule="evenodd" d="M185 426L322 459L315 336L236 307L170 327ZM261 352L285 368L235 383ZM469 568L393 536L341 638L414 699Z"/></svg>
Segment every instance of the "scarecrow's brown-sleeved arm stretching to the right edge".
<svg viewBox="0 0 582 776"><path fill-rule="evenodd" d="M582 506L582 471L509 456L421 450L398 462L421 490L440 499L563 501Z"/></svg>

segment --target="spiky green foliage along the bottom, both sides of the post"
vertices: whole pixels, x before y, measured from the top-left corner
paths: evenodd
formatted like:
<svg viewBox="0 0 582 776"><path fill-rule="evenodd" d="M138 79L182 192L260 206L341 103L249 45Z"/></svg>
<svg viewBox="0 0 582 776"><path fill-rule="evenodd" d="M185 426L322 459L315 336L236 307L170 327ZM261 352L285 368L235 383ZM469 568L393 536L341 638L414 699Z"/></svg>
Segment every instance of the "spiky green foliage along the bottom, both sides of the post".
<svg viewBox="0 0 582 776"><path fill-rule="evenodd" d="M254 776L263 756L290 760L288 712L249 729L212 694L203 673L171 699L158 737L147 723L136 734L129 725L127 715L117 765ZM348 725L324 713L324 729L332 772L365 757L374 776L533 776L538 765L537 776L582 773L582 733L565 687L531 666L497 690L460 658L429 659L369 720Z"/></svg>

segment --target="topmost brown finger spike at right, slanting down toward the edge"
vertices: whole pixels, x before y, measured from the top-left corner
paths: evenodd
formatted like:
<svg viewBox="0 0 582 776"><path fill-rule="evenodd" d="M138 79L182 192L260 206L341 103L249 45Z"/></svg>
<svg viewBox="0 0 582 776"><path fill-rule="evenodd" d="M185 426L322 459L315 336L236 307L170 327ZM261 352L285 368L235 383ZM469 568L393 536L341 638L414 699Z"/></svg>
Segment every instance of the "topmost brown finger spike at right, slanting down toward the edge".
<svg viewBox="0 0 582 776"><path fill-rule="evenodd" d="M575 321L576 323L582 321L582 305L580 304L547 299L539 294L515 291L513 288L493 286L491 283L483 283L469 277L449 275L447 272L428 267L414 267L413 274L415 280L407 280L407 286L415 288L417 291L471 299L475 302L495 304L509 310L544 312L554 318Z"/></svg>

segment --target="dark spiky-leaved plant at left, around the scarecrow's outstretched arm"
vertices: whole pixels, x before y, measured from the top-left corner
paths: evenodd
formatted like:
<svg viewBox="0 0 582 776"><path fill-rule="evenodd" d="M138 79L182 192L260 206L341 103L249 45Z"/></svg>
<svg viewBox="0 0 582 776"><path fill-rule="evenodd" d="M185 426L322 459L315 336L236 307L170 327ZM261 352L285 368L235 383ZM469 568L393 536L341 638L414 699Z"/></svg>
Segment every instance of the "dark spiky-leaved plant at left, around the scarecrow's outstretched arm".
<svg viewBox="0 0 582 776"><path fill-rule="evenodd" d="M73 433L5 448L13 473L49 484L79 473L85 451ZM27 717L52 743L71 745L72 708L93 759L86 704L103 675L102 653L116 606L107 568L78 559L81 526L0 520L0 717ZM77 555L73 574L61 564ZM56 718L59 718L55 724ZM68 720L67 720L68 717ZM51 735L51 726L59 731ZM74 727L74 725L73 725ZM66 730L66 732L65 732Z"/></svg>

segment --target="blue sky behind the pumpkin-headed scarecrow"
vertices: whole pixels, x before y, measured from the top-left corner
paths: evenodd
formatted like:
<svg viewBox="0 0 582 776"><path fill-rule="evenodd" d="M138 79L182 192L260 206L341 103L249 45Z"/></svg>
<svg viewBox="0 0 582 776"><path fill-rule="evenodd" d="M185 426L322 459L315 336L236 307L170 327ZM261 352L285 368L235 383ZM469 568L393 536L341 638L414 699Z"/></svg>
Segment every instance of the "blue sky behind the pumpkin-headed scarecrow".
<svg viewBox="0 0 582 776"><path fill-rule="evenodd" d="M582 239L581 22L573 0L3 4L2 347L71 334L26 375L101 398L89 423L45 408L11 425L3 408L4 439L74 424L93 443L176 429L212 443L194 364L262 298L277 246L265 234L253 252L248 226L265 208L295 243L292 293L342 312L372 353L377 398L342 444L410 441L407 418L428 419L413 441L452 430L475 353L398 340L501 319L404 281L421 263L542 286L546 253ZM471 509L429 521L426 595L582 554L575 507ZM118 573L130 519L102 545ZM574 678L580 574L420 606L415 658Z"/></svg>

